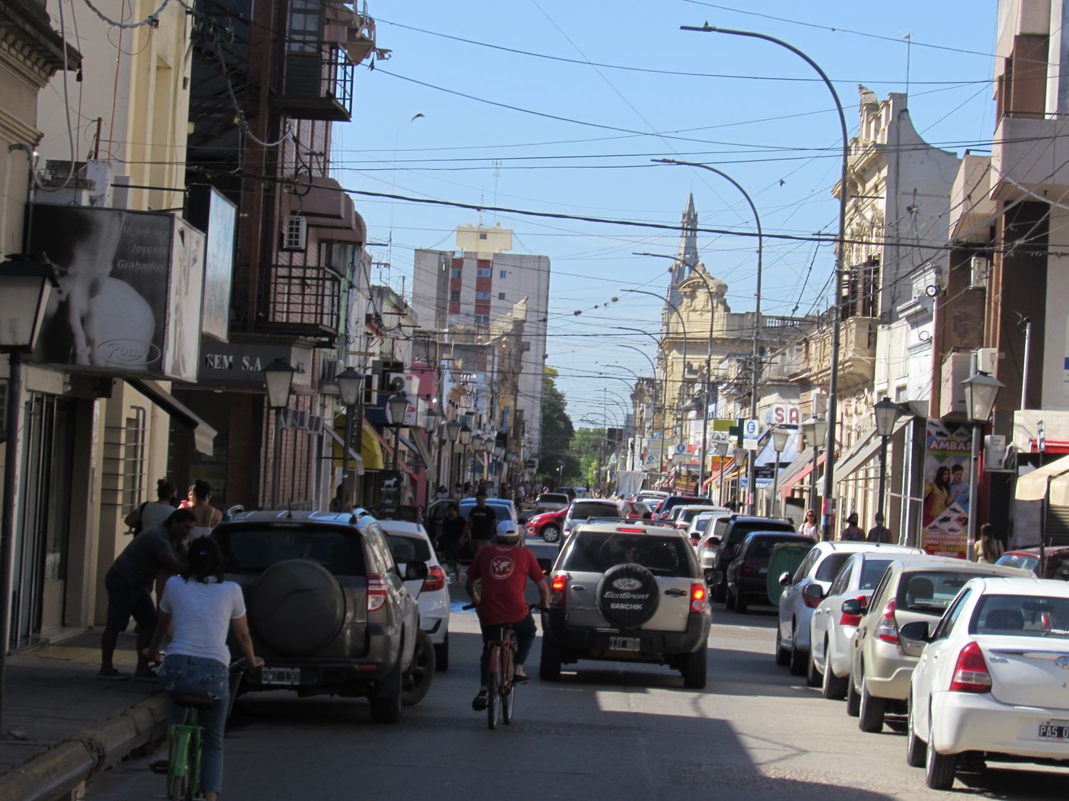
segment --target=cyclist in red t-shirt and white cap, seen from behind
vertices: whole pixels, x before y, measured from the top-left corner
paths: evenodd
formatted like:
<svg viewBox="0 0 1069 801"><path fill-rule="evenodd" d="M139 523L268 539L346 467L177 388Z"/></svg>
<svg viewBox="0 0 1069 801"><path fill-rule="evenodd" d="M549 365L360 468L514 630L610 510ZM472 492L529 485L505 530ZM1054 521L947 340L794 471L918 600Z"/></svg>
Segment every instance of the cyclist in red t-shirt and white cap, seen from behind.
<svg viewBox="0 0 1069 801"><path fill-rule="evenodd" d="M549 606L549 585L545 583L545 574L539 567L534 554L527 548L517 547L520 532L516 523L506 520L497 529L497 545L487 545L479 550L468 567L467 593L479 615L479 626L482 628L482 642L486 643L501 639L500 627L508 624L516 635L516 656L514 663L514 680L526 681L524 661L530 654L534 642L534 618L524 590L529 578L538 586L542 596L542 607ZM476 581L482 580L481 591L476 588ZM486 708L486 650L482 651L479 661L479 694L471 702L476 711Z"/></svg>

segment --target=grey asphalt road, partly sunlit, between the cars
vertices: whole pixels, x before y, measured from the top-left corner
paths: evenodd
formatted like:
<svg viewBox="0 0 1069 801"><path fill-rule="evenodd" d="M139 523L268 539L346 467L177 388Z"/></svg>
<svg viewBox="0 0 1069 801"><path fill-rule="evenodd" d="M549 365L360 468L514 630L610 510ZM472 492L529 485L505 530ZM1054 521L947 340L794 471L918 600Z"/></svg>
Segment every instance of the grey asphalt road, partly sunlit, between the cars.
<svg viewBox="0 0 1069 801"><path fill-rule="evenodd" d="M275 694L246 702L228 732L223 798L952 798L928 790L924 772L905 765L900 732L862 734L841 702L824 701L775 666L771 611L716 607L704 692L683 690L666 668L586 662L560 684L521 687L517 722L497 732L470 709L476 619L454 614L452 626L449 672L437 674L400 725L371 723L362 701ZM959 775L956 789L1064 799L1067 776L1005 766ZM144 760L128 763L94 782L88 798L152 798L162 785Z"/></svg>

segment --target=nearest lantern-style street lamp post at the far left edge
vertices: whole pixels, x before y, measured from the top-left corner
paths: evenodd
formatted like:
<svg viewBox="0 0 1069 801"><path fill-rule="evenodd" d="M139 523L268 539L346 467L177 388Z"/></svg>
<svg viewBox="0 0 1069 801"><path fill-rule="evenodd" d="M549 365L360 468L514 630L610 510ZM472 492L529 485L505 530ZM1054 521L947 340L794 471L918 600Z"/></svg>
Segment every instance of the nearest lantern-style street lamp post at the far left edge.
<svg viewBox="0 0 1069 801"><path fill-rule="evenodd" d="M50 267L24 258L0 264L0 352L7 355L4 407L3 530L0 533L0 714L3 713L11 646L12 563L18 474L18 433L21 424L22 357L33 350L44 320L56 274Z"/></svg>

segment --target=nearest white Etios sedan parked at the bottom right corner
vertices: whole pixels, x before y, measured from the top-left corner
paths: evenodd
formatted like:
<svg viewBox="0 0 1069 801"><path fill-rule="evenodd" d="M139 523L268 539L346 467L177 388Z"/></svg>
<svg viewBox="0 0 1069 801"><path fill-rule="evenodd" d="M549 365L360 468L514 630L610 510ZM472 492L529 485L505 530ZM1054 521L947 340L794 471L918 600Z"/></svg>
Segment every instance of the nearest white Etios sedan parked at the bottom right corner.
<svg viewBox="0 0 1069 801"><path fill-rule="evenodd" d="M972 579L931 634L918 621L900 637L920 657L910 678L907 761L927 768L929 787L951 787L969 752L1065 766L1069 585Z"/></svg>

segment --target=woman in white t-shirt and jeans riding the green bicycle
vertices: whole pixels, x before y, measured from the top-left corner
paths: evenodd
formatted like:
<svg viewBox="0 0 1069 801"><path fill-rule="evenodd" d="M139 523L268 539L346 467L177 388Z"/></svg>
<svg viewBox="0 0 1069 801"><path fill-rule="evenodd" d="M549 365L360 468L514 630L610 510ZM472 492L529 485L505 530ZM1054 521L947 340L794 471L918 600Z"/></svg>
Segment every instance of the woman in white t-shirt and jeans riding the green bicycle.
<svg viewBox="0 0 1069 801"><path fill-rule="evenodd" d="M159 682L168 694L207 695L217 703L202 711L204 727L201 788L205 801L215 801L222 789L222 733L230 696L230 648L227 632L233 631L249 669L263 660L252 650L242 588L222 580L219 547L211 537L189 544L189 570L167 580L159 600L159 624L145 650L150 661L159 659L159 644L169 629L171 643L159 669ZM188 710L167 703L167 721L185 723Z"/></svg>

